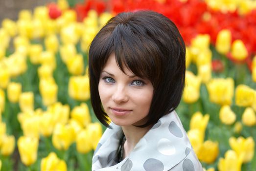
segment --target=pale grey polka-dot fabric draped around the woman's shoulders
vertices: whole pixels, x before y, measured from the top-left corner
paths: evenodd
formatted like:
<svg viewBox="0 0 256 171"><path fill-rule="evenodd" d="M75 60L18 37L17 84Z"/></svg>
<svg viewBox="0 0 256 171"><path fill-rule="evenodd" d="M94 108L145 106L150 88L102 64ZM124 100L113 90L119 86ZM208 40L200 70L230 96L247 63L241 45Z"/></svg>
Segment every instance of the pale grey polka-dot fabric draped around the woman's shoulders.
<svg viewBox="0 0 256 171"><path fill-rule="evenodd" d="M111 126L93 154L92 171L203 171L175 111L163 116L119 163L117 149L123 132Z"/></svg>

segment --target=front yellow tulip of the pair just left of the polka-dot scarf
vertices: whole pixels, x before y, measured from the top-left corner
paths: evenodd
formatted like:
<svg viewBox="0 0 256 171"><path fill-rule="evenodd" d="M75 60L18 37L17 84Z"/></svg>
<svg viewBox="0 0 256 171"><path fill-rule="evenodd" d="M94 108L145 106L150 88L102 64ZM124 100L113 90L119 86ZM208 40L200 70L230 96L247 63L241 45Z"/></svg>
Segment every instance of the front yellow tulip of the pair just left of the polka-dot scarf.
<svg viewBox="0 0 256 171"><path fill-rule="evenodd" d="M87 153L93 150L92 139L88 131L88 129L83 129L76 136L76 150L80 153Z"/></svg>

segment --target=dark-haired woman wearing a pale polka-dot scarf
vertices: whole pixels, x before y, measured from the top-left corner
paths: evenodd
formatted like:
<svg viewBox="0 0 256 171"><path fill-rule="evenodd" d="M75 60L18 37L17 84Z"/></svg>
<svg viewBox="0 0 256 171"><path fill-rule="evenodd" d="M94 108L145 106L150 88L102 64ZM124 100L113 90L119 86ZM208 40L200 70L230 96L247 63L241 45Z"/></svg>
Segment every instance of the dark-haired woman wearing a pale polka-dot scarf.
<svg viewBox="0 0 256 171"><path fill-rule="evenodd" d="M108 128L92 171L203 170L174 110L185 54L175 24L156 12L118 14L98 32L89 50L91 101Z"/></svg>

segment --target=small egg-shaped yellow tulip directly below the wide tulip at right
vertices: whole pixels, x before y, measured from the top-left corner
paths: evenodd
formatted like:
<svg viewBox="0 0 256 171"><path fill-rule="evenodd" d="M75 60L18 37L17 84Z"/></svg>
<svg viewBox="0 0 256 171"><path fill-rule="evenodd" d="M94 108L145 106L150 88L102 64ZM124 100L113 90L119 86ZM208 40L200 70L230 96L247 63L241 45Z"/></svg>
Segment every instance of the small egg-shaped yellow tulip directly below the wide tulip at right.
<svg viewBox="0 0 256 171"><path fill-rule="evenodd" d="M220 121L226 125L231 125L235 121L235 113L232 111L231 107L224 105L220 108L219 113Z"/></svg>

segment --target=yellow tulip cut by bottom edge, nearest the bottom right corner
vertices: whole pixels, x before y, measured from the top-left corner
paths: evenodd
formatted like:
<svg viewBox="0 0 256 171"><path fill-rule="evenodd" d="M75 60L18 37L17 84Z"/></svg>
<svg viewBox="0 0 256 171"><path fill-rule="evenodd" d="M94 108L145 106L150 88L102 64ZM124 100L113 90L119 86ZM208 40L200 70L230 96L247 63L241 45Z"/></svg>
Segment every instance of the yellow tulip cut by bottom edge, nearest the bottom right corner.
<svg viewBox="0 0 256 171"><path fill-rule="evenodd" d="M219 171L241 171L242 158L235 151L228 150L225 153L225 158L220 158L218 163Z"/></svg>

